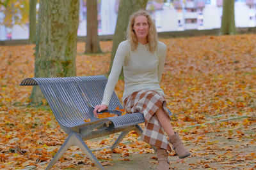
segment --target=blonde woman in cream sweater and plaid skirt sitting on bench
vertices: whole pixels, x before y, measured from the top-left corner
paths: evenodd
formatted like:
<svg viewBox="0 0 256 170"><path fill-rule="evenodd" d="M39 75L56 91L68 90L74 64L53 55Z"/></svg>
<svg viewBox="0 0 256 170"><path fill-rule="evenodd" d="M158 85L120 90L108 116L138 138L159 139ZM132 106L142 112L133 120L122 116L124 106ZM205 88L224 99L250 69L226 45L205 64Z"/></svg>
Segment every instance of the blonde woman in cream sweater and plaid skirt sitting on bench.
<svg viewBox="0 0 256 170"><path fill-rule="evenodd" d="M97 111L105 110L115 89L119 74L124 69L123 104L127 113L140 112L145 118L145 130L141 139L156 146L158 169L169 169L169 142L179 158L190 155L184 148L177 133L173 132L164 92L159 83L164 68L166 45L157 39L156 25L146 11L133 13L127 27L127 40L116 50L115 59L102 103L95 106ZM164 135L168 134L169 140Z"/></svg>

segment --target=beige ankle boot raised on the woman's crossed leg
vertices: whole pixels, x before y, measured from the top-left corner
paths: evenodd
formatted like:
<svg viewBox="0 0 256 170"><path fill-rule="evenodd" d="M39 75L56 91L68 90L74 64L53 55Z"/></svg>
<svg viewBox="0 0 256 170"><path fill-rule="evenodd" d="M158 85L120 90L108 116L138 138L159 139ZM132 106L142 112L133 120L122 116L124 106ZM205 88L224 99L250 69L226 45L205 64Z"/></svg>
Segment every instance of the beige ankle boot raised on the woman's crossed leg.
<svg viewBox="0 0 256 170"><path fill-rule="evenodd" d="M175 134L173 134L173 136L169 136L169 142L172 143L173 150L180 159L186 158L191 155L189 150L184 147L179 135L176 132Z"/></svg>

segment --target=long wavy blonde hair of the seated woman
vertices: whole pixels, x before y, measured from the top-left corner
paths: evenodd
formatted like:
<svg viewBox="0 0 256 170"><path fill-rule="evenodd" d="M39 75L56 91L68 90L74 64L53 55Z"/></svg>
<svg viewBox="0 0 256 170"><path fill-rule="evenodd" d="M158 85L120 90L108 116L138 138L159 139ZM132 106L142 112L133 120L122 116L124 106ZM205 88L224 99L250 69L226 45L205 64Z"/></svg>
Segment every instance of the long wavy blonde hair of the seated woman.
<svg viewBox="0 0 256 170"><path fill-rule="evenodd" d="M148 20L148 50L150 52L155 52L157 48L157 32L156 32L156 25L154 24L152 18L150 17L149 13L144 10L139 10L134 13L129 18L129 24L127 26L126 30L126 38L130 39L130 44L131 44L131 50L135 51L138 47L138 39L136 36L135 31L132 29L135 23L135 18L139 16L145 16Z"/></svg>

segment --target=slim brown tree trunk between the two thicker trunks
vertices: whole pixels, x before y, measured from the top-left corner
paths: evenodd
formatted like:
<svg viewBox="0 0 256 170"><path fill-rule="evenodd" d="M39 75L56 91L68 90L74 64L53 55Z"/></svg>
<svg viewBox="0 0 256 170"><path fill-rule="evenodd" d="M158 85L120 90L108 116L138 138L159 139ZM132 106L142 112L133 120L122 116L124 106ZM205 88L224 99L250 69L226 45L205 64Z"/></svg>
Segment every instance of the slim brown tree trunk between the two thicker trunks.
<svg viewBox="0 0 256 170"><path fill-rule="evenodd" d="M86 1L87 8L87 34L85 53L100 53L100 43L98 36L98 11L97 0Z"/></svg>

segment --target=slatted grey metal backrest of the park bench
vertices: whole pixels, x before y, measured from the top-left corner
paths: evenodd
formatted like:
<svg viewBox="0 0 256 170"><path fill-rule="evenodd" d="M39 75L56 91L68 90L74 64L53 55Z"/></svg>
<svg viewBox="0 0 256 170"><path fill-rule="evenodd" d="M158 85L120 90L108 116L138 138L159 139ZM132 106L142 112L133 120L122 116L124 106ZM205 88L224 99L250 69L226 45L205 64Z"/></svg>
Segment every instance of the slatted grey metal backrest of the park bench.
<svg viewBox="0 0 256 170"><path fill-rule="evenodd" d="M36 81L36 83L35 83ZM96 120L89 105L100 104L108 79L105 76L28 78L20 85L39 85L58 123L64 127ZM115 92L109 109L123 108Z"/></svg>

